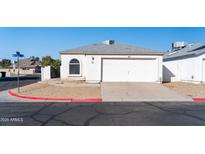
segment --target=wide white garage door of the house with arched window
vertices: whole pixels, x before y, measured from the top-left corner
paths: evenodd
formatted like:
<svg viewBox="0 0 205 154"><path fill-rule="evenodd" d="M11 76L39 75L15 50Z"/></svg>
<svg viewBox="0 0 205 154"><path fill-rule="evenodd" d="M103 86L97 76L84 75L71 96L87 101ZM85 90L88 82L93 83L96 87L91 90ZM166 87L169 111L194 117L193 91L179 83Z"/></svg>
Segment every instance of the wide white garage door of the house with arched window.
<svg viewBox="0 0 205 154"><path fill-rule="evenodd" d="M155 82L156 59L103 59L104 82Z"/></svg>

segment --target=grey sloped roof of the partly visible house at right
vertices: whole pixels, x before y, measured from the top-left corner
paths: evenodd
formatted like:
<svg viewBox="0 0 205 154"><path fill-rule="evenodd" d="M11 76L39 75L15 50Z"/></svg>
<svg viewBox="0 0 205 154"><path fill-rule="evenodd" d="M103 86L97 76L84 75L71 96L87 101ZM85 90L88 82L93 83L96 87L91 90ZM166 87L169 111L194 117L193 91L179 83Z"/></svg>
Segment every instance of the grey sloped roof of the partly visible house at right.
<svg viewBox="0 0 205 154"><path fill-rule="evenodd" d="M187 57L194 57L203 53L205 53L205 44L188 44L179 50L166 52L163 56L163 60L171 61Z"/></svg>

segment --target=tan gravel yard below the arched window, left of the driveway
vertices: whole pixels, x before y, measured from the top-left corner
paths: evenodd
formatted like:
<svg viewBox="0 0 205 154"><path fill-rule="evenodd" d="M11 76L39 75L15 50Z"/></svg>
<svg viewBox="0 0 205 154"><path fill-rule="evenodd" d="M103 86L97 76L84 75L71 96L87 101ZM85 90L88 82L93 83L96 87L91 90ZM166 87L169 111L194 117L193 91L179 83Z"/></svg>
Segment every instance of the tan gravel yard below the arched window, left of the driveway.
<svg viewBox="0 0 205 154"><path fill-rule="evenodd" d="M14 89L16 92L17 89ZM35 83L21 87L21 95L48 98L101 98L100 87L61 87Z"/></svg>

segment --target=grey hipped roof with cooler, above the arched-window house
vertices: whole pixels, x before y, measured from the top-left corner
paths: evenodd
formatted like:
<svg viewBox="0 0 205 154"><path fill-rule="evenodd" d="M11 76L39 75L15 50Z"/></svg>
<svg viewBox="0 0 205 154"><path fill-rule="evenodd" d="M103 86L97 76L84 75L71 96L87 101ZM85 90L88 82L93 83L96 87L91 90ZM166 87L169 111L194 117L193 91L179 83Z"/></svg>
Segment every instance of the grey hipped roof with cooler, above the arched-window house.
<svg viewBox="0 0 205 154"><path fill-rule="evenodd" d="M114 40L106 40L79 48L61 51L60 54L159 54L164 53L151 49L141 48L134 45L115 43Z"/></svg>

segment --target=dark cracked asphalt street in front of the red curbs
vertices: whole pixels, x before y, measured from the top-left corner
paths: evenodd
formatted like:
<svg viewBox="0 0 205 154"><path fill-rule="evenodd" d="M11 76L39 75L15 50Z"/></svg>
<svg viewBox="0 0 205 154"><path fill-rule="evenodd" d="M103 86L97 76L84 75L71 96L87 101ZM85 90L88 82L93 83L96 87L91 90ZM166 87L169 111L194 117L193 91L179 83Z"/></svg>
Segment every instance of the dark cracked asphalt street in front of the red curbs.
<svg viewBox="0 0 205 154"><path fill-rule="evenodd" d="M29 102L7 95L15 86L14 81L0 82L2 126L205 125L204 102Z"/></svg>

